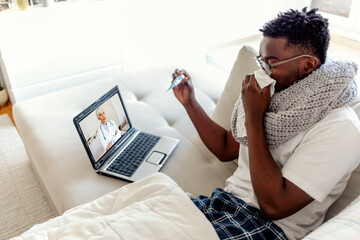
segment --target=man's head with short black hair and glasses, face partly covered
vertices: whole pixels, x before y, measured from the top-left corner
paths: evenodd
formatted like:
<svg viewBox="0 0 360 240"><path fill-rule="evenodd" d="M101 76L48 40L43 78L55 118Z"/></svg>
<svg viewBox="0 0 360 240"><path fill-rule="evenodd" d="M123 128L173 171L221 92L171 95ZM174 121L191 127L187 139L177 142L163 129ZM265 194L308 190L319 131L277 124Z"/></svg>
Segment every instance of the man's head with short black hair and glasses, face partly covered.
<svg viewBox="0 0 360 240"><path fill-rule="evenodd" d="M316 11L291 9L279 13L260 29L264 36L260 58L270 65L277 90L306 77L326 60L330 39L328 21ZM297 56L301 57L294 58ZM283 60L290 61L280 63Z"/></svg>

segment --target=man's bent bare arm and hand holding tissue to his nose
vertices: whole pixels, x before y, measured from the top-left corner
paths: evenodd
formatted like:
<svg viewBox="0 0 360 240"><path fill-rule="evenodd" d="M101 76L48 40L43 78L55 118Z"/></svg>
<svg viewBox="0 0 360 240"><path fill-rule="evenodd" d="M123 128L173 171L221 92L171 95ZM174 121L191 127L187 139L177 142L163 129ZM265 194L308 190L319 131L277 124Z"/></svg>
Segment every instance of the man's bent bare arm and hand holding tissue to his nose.
<svg viewBox="0 0 360 240"><path fill-rule="evenodd" d="M258 89L255 77L246 76L242 101L248 138L252 186L260 209L271 219L299 211L311 201L302 189L282 176L266 142L263 119L270 100L270 87Z"/></svg>

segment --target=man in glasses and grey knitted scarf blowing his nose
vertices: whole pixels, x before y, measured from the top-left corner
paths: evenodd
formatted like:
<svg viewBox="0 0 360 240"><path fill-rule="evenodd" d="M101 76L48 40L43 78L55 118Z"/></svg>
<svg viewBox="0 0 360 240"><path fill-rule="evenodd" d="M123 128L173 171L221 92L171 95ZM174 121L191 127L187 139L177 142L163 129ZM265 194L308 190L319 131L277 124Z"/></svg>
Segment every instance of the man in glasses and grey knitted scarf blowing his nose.
<svg viewBox="0 0 360 240"><path fill-rule="evenodd" d="M322 223L359 163L360 123L347 106L357 66L326 58L328 22L314 9L280 13L260 31L256 60L275 93L254 75L239 79L230 130L206 115L185 70L173 74L185 75L174 94L205 145L221 161L238 158L225 190L193 201L220 238L300 239ZM246 136L238 133L241 112Z"/></svg>

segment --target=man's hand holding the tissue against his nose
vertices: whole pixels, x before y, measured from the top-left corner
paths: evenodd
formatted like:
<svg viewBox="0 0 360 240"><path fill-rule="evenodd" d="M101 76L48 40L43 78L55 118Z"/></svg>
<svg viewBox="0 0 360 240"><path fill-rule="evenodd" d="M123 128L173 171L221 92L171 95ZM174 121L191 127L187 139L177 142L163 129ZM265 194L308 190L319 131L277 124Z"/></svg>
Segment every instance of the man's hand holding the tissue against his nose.
<svg viewBox="0 0 360 240"><path fill-rule="evenodd" d="M259 89L254 75L247 75L242 83L242 102L245 125L262 124L270 101L270 86Z"/></svg>

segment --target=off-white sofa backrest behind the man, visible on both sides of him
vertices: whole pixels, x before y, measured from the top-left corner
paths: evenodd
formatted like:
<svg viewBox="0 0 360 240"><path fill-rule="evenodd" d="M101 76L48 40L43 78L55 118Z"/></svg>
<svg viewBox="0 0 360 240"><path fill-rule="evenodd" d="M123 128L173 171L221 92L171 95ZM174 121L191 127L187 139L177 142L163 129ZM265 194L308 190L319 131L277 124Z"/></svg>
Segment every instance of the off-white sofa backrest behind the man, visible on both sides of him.
<svg viewBox="0 0 360 240"><path fill-rule="evenodd" d="M225 129L230 129L232 109L240 96L242 80L245 78L245 75L252 74L258 69L257 64L253 60L256 55L256 50L250 46L243 46L240 49L224 91L213 112L212 119ZM355 110L360 119L360 97L353 101L350 106ZM359 183L360 165L352 173L343 194L329 208L325 220L335 216L360 195Z"/></svg>

